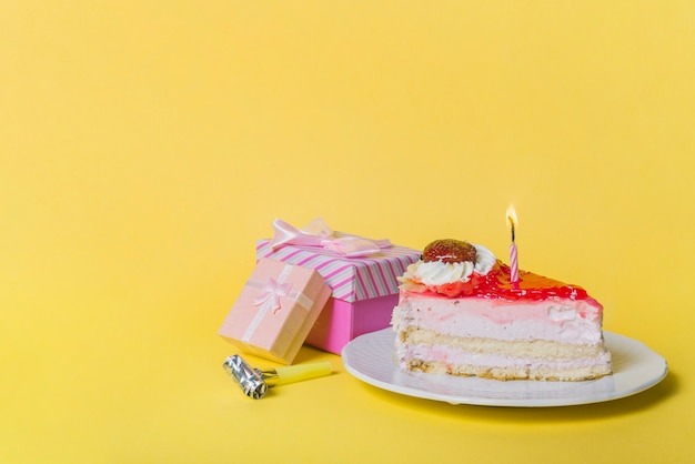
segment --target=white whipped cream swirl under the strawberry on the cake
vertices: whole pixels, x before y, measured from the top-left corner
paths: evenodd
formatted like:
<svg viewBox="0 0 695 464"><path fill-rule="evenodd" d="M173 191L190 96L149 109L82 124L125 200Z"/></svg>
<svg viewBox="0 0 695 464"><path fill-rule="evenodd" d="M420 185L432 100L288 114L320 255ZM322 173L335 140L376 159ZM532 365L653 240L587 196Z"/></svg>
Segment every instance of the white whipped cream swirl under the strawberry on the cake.
<svg viewBox="0 0 695 464"><path fill-rule="evenodd" d="M442 261L417 261L407 266L407 270L399 280L404 290L424 291L423 286L444 285L453 282L467 282L473 272L485 275L497 261L495 255L485 246L475 246L475 263L464 261L459 263L444 263Z"/></svg>

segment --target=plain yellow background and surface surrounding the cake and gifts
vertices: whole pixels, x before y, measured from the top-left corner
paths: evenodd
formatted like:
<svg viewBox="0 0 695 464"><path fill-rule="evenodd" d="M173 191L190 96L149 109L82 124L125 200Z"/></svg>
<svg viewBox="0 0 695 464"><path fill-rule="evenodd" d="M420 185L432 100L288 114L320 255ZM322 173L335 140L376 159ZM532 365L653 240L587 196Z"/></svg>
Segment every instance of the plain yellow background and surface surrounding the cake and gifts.
<svg viewBox="0 0 695 464"><path fill-rule="evenodd" d="M0 1L0 462L687 462L694 23L687 1ZM304 347L335 373L254 402L222 370L274 218L506 259L510 203L522 269L587 288L663 383L453 406Z"/></svg>

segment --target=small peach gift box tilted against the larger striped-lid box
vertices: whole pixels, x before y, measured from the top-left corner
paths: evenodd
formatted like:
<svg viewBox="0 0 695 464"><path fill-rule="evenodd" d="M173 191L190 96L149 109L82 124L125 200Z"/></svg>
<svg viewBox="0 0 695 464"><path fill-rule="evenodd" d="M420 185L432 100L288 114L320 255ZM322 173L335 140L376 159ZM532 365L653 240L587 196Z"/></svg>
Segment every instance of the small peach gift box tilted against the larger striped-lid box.
<svg viewBox="0 0 695 464"><path fill-rule="evenodd" d="M316 271L261 259L219 334L245 353L291 364L330 296Z"/></svg>

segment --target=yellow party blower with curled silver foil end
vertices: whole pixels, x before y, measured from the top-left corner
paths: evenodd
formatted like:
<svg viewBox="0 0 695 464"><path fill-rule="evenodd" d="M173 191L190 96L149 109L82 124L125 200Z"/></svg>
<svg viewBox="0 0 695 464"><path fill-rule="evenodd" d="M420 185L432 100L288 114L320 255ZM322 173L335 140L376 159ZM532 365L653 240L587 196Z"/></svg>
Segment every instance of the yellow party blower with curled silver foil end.
<svg viewBox="0 0 695 464"><path fill-rule="evenodd" d="M333 370L331 363L324 361L261 371L251 367L239 354L233 354L224 360L222 367L236 381L245 395L254 400L265 396L270 386L321 377L331 374Z"/></svg>

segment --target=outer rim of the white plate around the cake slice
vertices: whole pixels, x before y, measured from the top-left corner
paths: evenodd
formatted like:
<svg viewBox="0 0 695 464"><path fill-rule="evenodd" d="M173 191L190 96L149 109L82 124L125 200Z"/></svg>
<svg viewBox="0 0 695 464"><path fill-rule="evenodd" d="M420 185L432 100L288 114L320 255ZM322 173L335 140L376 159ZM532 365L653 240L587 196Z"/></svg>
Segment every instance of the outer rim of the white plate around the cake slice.
<svg viewBox="0 0 695 464"><path fill-rule="evenodd" d="M362 334L355 337L354 340L345 344L345 346L343 346L341 351L341 356L342 356L343 365L345 366L345 370L351 375L353 375L354 377L359 379L360 381L364 383L367 383L370 385L373 385L379 389L386 390L393 393L399 393L405 396L446 402L446 403L454 404L454 405L466 404L466 405L505 406L505 407L556 407L556 406L573 406L573 405L601 403L601 402L606 402L606 401L620 400L623 397L632 396L637 393L644 392L653 387L654 385L658 384L668 374L667 361L662 355L651 350L643 342L635 340L635 339L631 339L625 335L611 332L611 331L603 331L603 333L606 340L606 346L608 347L610 351L611 351L611 346L614 344L626 343L629 345L631 349L639 350L641 354L645 356L649 356L649 359L653 360L652 367L654 367L655 370L658 370L658 371L655 371L655 372L658 372L658 374L651 376L649 379L647 379L646 381L642 383L634 384L629 389L606 392L603 394L576 396L576 397L571 397L571 399L480 397L480 396L470 396L470 395L466 396L465 394L449 395L449 394L435 393L435 392L431 392L431 391L426 391L426 390L422 390L422 389L417 389L417 387L409 386L409 385L397 385L394 383L385 382L380 379L375 379L374 376L370 375L369 373L364 373L360 371L355 365L353 365L353 361L352 361L352 356L354 354L353 352L355 351L355 347L359 346L360 344L365 343L365 341L373 341L377 337L385 337L385 336L389 336L392 341L395 340L395 333L393 332L391 327ZM397 367L397 365L393 362L392 355L393 355L393 352L377 353L377 356L387 356L391 360L391 365L393 366L393 373L395 374L397 373L397 371L400 371L400 367ZM385 357L380 357L380 359L385 360ZM431 376L431 375L439 375L439 374L427 374L427 373L421 373L421 372L406 373L405 371L401 371L401 373L406 374L406 375L416 375L420 379L426 379L427 376ZM612 375L605 376L603 379L610 379L610 377L620 379L621 374L625 375L625 373L614 372ZM538 382L538 381L506 381L504 382L504 381L480 379L480 377L452 377L452 379L456 379L457 382L465 382L467 379L472 379L472 380L474 379L474 382L502 382L502 384L510 384L510 385L514 385L515 382ZM594 380L594 381L585 381L585 382L597 382L597 381L601 381L601 379Z"/></svg>

